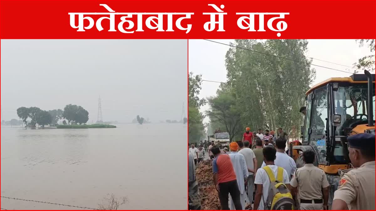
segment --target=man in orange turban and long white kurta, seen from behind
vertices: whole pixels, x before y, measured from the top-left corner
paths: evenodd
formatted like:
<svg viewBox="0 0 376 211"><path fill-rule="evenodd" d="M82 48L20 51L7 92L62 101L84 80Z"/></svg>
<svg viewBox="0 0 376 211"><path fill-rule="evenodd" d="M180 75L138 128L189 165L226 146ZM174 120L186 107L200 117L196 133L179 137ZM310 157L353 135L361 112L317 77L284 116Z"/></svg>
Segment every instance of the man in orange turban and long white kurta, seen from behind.
<svg viewBox="0 0 376 211"><path fill-rule="evenodd" d="M230 158L234 168L238 187L240 191L240 202L243 209L246 208L246 196L245 181L248 178L248 168L244 155L238 153L239 146L236 142L230 143ZM235 205L230 196L230 210L235 210Z"/></svg>

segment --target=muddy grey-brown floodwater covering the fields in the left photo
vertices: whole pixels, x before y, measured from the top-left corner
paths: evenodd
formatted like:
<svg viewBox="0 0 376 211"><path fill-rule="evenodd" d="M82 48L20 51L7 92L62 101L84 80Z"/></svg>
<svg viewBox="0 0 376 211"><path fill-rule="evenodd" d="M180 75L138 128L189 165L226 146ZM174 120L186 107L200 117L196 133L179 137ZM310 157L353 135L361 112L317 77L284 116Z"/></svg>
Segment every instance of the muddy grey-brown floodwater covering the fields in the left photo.
<svg viewBox="0 0 376 211"><path fill-rule="evenodd" d="M187 209L187 126L1 128L1 196L89 208ZM80 209L1 198L5 209Z"/></svg>

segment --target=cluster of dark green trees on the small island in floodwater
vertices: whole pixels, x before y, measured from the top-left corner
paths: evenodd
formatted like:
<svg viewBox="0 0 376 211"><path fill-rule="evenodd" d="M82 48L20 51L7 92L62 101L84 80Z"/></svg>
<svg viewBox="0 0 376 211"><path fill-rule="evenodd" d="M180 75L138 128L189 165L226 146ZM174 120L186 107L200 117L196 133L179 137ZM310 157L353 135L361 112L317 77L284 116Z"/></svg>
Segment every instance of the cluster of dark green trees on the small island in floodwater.
<svg viewBox="0 0 376 211"><path fill-rule="evenodd" d="M45 125L55 126L58 121L64 119L63 124L81 125L89 120L89 112L82 106L66 105L64 110L41 110L38 107L20 107L17 109L17 116L25 123L26 127L35 127L36 124L44 127ZM29 124L27 124L30 119Z"/></svg>

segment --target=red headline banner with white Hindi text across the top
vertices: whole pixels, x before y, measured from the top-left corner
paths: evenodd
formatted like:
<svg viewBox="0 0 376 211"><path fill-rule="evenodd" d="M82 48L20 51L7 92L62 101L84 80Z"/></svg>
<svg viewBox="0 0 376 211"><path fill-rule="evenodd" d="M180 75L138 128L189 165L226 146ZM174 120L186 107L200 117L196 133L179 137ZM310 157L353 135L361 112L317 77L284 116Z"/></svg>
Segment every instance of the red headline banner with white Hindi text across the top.
<svg viewBox="0 0 376 211"><path fill-rule="evenodd" d="M375 8L376 2L368 0L2 0L0 36L2 39L370 39L375 38Z"/></svg>

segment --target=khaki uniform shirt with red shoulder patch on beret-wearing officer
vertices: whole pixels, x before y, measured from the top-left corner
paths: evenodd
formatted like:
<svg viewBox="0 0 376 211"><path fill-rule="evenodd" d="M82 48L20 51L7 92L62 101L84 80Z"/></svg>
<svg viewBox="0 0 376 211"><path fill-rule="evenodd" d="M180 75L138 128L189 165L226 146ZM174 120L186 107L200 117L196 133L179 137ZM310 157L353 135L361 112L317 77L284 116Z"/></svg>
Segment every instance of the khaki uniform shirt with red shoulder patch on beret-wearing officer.
<svg viewBox="0 0 376 211"><path fill-rule="evenodd" d="M375 209L375 161L345 173L334 199L347 203L349 209Z"/></svg>

